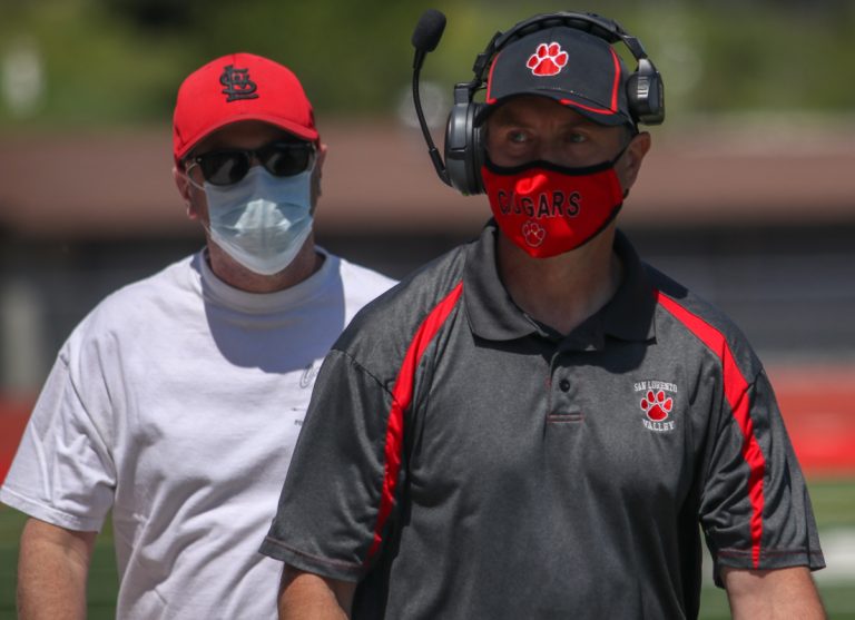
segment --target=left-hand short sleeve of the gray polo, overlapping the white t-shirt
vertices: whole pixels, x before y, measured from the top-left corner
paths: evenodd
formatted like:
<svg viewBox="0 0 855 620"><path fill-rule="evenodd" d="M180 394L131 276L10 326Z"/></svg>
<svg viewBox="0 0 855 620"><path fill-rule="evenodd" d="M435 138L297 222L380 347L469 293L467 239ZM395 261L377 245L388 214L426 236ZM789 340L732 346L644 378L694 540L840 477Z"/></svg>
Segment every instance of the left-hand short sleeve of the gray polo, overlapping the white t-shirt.
<svg viewBox="0 0 855 620"><path fill-rule="evenodd" d="M337 350L327 355L262 553L332 579L363 575L383 540L391 409L390 392L363 366Z"/></svg>

